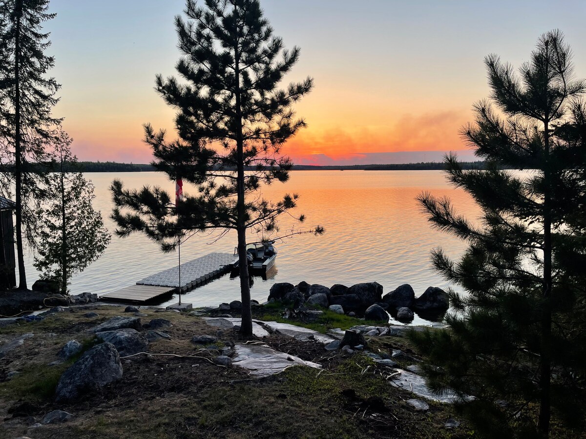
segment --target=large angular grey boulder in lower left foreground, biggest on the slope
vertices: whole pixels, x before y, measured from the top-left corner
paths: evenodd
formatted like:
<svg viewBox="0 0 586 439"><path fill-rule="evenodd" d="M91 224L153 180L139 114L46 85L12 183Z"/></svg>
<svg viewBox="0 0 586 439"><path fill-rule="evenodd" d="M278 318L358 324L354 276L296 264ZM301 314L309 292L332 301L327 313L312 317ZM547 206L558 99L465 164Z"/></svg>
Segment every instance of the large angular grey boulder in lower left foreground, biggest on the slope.
<svg viewBox="0 0 586 439"><path fill-rule="evenodd" d="M86 351L59 380L56 400L77 399L88 390L97 390L122 378L122 364L116 348L102 343Z"/></svg>

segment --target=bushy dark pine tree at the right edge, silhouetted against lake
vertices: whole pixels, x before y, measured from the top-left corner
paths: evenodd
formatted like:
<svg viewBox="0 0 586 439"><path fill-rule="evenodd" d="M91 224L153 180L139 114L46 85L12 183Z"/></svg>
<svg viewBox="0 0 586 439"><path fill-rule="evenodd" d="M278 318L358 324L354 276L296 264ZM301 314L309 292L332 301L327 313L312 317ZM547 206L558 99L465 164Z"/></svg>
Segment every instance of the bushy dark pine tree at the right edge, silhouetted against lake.
<svg viewBox="0 0 586 439"><path fill-rule="evenodd" d="M582 406L572 398L586 372L586 83L573 80L558 30L541 36L519 74L495 55L485 64L491 100L475 105L476 123L462 135L486 170L446 160L448 180L482 217L469 221L447 198L419 197L436 228L469 243L458 262L432 253L466 292L450 291L448 330L413 338L436 390L476 396L463 407L482 433L547 436L551 407L566 422L584 419L569 412Z"/></svg>

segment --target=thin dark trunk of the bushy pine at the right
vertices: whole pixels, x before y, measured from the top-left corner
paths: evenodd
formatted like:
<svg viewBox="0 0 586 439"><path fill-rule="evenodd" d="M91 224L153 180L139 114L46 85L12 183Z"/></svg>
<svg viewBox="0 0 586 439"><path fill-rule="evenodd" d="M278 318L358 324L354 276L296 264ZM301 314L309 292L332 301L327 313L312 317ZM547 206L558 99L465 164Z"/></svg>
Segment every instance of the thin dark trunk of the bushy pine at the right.
<svg viewBox="0 0 586 439"><path fill-rule="evenodd" d="M550 170L550 133L546 116L544 129L545 167L543 200L543 309L541 311L541 356L539 382L541 398L539 407L539 431L548 437L550 426L550 387L551 387L551 170Z"/></svg>

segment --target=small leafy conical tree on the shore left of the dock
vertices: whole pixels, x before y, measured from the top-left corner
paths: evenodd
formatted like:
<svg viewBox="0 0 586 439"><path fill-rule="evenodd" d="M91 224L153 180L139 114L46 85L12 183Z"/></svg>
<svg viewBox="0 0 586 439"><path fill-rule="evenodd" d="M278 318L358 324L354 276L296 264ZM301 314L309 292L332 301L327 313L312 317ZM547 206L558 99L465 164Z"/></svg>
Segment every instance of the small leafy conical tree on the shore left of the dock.
<svg viewBox="0 0 586 439"><path fill-rule="evenodd" d="M55 146L60 172L50 174L45 204L38 211L39 246L33 264L43 279L59 283L63 294L69 279L97 260L110 243L101 214L91 204L96 198L93 184L81 172L64 172L65 164L71 168L77 162L70 145L69 136L60 133Z"/></svg>

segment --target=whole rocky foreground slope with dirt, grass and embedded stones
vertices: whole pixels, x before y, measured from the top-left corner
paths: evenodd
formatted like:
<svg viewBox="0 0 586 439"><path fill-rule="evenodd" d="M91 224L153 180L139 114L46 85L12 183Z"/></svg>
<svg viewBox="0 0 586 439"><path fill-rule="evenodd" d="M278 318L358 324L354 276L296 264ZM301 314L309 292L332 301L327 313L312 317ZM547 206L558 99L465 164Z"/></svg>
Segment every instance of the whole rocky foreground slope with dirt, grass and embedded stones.
<svg viewBox="0 0 586 439"><path fill-rule="evenodd" d="M260 308L255 308L255 317L278 320L270 307ZM156 311L124 313L124 307L89 304L57 308L41 321L1 328L0 437L471 435L449 404L391 385L393 368L376 358L392 358L401 351L405 356L393 362L405 368L417 362L399 331L383 336L361 333L369 356L364 348L328 350L323 341L280 331L242 339L230 325L207 324L197 311ZM231 314L237 317L236 311ZM123 320L127 327L116 328ZM321 325L327 332L333 326L363 322L326 311L292 323ZM206 335L210 338L202 338ZM237 365L236 349L251 344L316 366L255 375ZM110 351L104 348L114 345ZM145 351L149 355L132 354ZM98 361L88 362L98 355ZM95 381L89 382L87 376L93 373Z"/></svg>

